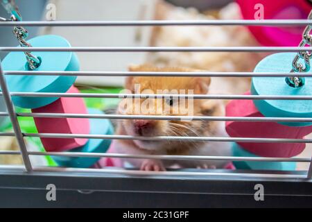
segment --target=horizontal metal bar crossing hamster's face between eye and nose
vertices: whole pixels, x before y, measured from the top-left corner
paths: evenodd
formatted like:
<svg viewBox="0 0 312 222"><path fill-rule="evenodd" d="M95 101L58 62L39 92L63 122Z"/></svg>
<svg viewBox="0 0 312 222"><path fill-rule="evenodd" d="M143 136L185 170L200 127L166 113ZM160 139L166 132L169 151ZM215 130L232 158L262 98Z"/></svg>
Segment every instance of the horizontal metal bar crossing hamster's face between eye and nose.
<svg viewBox="0 0 312 222"><path fill-rule="evenodd" d="M201 116L154 116L127 114L69 114L69 113L31 113L19 112L18 117L37 118L88 118L88 119L155 119L155 120L192 120L192 121L257 121L257 122L312 122L312 118L295 117L201 117Z"/></svg>

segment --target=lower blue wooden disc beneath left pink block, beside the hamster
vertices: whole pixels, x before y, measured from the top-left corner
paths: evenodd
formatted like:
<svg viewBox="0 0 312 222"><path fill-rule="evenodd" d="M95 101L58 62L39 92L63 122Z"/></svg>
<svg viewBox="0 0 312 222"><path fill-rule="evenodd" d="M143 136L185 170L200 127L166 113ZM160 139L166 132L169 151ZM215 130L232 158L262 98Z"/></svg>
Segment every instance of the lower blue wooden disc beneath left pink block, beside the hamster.
<svg viewBox="0 0 312 222"><path fill-rule="evenodd" d="M103 114L100 110L88 109L89 114ZM90 134L93 135L112 135L114 128L108 119L90 119ZM68 152L81 153L105 153L110 147L111 139L89 139L85 146L71 149ZM62 157L52 156L53 160L58 163L60 167L91 167L98 162L98 157Z"/></svg>

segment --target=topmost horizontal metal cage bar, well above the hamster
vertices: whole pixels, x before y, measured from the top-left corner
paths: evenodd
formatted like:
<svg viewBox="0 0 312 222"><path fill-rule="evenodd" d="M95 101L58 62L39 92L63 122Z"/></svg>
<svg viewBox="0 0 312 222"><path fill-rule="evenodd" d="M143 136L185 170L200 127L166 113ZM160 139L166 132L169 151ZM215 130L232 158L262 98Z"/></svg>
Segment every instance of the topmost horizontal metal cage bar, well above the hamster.
<svg viewBox="0 0 312 222"><path fill-rule="evenodd" d="M0 22L0 26L306 26L309 24L312 24L309 19Z"/></svg>

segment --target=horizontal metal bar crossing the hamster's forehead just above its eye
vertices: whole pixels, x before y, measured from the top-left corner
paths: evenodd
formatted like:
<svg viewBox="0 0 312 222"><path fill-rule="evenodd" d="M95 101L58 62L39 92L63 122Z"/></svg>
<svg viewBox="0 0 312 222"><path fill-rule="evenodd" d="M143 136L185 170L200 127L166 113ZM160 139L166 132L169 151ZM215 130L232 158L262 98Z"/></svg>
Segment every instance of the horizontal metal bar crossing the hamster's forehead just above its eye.
<svg viewBox="0 0 312 222"><path fill-rule="evenodd" d="M0 96L2 92L0 92ZM83 97L83 98L168 98L185 99L266 99L266 100L311 100L312 96L276 96L276 95L218 95L218 94L105 94L105 93L50 93L50 92L11 92L11 96L24 97Z"/></svg>

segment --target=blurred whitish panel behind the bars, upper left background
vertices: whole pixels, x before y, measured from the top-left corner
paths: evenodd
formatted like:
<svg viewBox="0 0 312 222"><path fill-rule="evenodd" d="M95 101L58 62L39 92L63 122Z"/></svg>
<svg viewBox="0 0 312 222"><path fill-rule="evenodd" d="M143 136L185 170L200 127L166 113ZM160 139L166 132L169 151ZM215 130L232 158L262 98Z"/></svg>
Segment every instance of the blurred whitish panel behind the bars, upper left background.
<svg viewBox="0 0 312 222"><path fill-rule="evenodd" d="M56 20L153 19L156 0L51 0ZM45 19L45 16L44 16ZM151 27L45 27L40 34L62 35L72 46L148 46ZM146 53L78 53L82 71L126 71ZM78 83L123 85L123 77L80 77Z"/></svg>

